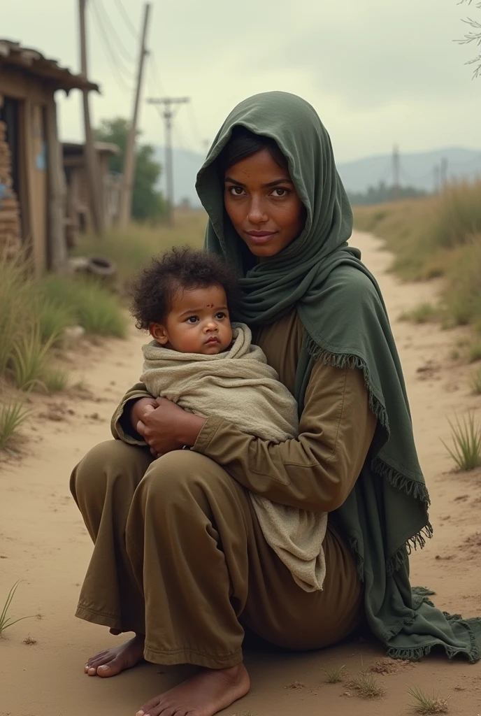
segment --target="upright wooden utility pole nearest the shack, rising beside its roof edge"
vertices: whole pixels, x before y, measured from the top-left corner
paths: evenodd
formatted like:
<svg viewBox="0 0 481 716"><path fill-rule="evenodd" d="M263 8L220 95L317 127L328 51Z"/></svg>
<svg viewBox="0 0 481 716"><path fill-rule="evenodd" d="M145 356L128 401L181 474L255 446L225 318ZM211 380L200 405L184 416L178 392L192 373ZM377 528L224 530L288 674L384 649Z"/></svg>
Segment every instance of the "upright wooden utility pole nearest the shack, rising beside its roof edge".
<svg viewBox="0 0 481 716"><path fill-rule="evenodd" d="M88 79L87 73L87 37L85 32L85 8L87 0L79 0L79 29L80 29L80 71L84 79ZM84 131L85 145L84 157L87 168L87 190L89 192L90 212L92 215L92 223L94 233L97 235L102 233L103 215L101 205L101 194L99 190L99 171L97 164L97 155L95 153L94 135L92 133L92 125L90 124L89 110L89 90L82 89L84 104Z"/></svg>

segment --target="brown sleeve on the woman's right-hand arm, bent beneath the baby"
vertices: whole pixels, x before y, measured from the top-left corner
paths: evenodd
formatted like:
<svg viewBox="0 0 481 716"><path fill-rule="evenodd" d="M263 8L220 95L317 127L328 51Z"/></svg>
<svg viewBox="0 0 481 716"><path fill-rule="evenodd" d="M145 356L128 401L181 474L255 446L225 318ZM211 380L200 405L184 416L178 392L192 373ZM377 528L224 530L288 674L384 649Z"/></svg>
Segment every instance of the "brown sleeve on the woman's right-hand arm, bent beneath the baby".
<svg viewBox="0 0 481 716"><path fill-rule="evenodd" d="M361 372L318 363L296 440L276 445L210 417L193 449L273 502L331 512L354 487L375 429Z"/></svg>

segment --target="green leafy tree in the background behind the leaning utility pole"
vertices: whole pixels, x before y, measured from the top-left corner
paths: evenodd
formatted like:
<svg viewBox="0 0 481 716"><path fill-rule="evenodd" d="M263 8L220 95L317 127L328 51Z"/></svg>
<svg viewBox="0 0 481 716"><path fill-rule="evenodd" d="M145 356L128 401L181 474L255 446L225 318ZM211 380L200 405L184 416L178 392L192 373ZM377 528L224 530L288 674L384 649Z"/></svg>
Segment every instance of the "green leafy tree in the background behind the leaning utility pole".
<svg viewBox="0 0 481 716"><path fill-rule="evenodd" d="M110 171L122 173L129 122L123 117L102 120L95 130L99 142L111 142L120 147L120 155L110 159ZM137 132L137 137L140 132ZM135 148L135 177L132 188L132 218L148 221L165 215L166 205L162 193L156 188L162 173L162 166L155 161L154 147L150 144Z"/></svg>

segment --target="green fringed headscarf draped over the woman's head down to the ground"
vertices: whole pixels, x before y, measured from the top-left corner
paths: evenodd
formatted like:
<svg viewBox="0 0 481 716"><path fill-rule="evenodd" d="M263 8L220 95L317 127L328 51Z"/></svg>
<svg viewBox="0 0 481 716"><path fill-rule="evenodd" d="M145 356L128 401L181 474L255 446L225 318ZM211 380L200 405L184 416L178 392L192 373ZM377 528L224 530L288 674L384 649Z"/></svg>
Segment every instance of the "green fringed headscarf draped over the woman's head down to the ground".
<svg viewBox="0 0 481 716"><path fill-rule="evenodd" d="M300 236L255 265L225 214L215 162L237 126L276 140L306 207ZM360 251L347 244L351 208L316 111L285 92L241 102L215 137L196 186L209 216L205 248L226 258L240 276L236 318L256 326L293 307L298 311L305 328L296 372L300 412L316 361L364 374L378 424L361 475L336 518L356 554L369 627L395 658L419 659L441 646L450 657L462 653L477 661L481 619L443 614L429 601L432 592L409 584L409 552L432 536L429 496L384 301Z"/></svg>

